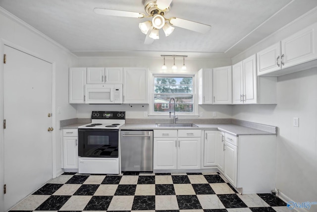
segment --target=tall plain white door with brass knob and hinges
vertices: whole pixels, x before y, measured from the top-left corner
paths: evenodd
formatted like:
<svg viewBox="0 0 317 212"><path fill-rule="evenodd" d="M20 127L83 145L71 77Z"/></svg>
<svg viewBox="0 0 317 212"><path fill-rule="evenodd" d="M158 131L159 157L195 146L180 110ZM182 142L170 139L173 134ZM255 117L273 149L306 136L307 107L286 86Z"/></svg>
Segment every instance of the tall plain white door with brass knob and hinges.
<svg viewBox="0 0 317 212"><path fill-rule="evenodd" d="M4 211L52 179L52 64L4 46Z"/></svg>

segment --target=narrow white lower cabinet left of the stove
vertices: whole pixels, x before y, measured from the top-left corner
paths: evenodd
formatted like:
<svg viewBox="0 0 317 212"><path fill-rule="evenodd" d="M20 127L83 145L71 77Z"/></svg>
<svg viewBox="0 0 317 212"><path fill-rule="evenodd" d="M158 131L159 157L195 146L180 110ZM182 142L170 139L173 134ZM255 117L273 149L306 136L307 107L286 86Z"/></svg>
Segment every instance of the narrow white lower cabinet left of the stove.
<svg viewBox="0 0 317 212"><path fill-rule="evenodd" d="M63 130L63 167L78 169L78 130Z"/></svg>

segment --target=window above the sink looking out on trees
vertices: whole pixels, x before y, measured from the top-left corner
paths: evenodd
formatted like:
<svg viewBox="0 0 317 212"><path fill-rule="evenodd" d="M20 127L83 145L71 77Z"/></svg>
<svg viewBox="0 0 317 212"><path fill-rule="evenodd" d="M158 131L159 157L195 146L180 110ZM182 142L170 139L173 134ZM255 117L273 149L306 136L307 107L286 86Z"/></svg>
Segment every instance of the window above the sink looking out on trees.
<svg viewBox="0 0 317 212"><path fill-rule="evenodd" d="M180 114L194 113L193 76L156 76L154 75L153 111L155 114L173 111L175 99L175 111ZM165 114L165 113L163 113Z"/></svg>

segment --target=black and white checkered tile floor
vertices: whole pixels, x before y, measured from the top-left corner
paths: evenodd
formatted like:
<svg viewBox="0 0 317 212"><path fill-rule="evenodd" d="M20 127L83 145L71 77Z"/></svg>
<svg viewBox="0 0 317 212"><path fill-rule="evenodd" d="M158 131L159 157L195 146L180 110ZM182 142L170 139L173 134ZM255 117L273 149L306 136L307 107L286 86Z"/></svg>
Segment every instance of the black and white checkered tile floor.
<svg viewBox="0 0 317 212"><path fill-rule="evenodd" d="M239 195L217 172L64 173L13 211L289 212L271 194Z"/></svg>

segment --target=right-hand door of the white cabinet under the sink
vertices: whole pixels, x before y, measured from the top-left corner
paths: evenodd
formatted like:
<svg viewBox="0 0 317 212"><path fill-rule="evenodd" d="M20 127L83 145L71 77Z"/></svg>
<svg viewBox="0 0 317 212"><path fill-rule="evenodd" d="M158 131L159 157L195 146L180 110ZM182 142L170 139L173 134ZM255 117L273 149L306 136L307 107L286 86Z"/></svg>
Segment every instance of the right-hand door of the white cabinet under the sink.
<svg viewBox="0 0 317 212"><path fill-rule="evenodd" d="M179 138L177 150L178 169L200 169L201 138Z"/></svg>

